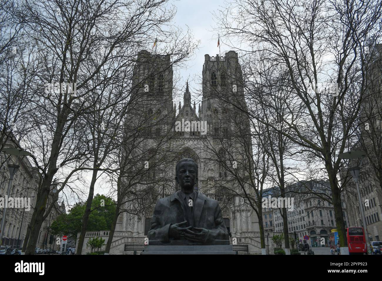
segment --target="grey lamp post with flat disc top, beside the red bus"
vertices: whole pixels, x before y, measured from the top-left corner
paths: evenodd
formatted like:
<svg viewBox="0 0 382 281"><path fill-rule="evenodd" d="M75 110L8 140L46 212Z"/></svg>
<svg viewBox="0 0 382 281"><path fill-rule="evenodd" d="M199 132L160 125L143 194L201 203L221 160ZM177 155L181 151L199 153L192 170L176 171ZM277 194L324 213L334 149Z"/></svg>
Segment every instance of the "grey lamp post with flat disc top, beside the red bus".
<svg viewBox="0 0 382 281"><path fill-rule="evenodd" d="M362 161L365 155L366 155L366 152L364 151L349 151L349 152L341 153L340 155L338 155L338 158L344 160L343 162L345 162L346 167L348 167L348 171L353 177L354 183L356 184L356 187L357 187L359 209L361 210L362 223L363 223L363 228L365 231L366 249L369 252L370 251L369 250L370 248L369 233L367 232L365 211L363 209L361 192L359 192L359 184L358 184L359 171L361 171ZM346 250L347 250L346 253L348 253L348 249ZM343 253L342 249L341 249L341 253Z"/></svg>

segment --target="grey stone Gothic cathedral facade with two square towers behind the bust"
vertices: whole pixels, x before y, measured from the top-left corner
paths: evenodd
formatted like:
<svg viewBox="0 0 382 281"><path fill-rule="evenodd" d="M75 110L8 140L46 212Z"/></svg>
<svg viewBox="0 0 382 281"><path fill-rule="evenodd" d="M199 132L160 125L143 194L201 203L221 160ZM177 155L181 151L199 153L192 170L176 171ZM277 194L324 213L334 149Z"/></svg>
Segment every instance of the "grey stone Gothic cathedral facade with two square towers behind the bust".
<svg viewBox="0 0 382 281"><path fill-rule="evenodd" d="M231 243L248 245L247 253L261 253L256 213L236 192L238 186L231 177L233 170L227 169L227 165L235 167L243 149L231 136L250 130L249 122L238 118L235 109L235 104L244 103L238 54L230 51L225 57L205 55L202 102L198 105L191 101L188 82L183 104L174 104L169 56L152 55L143 50L138 53L134 71L133 88L137 96L134 96L130 114L134 128L142 128L142 138L136 147L141 152L147 149L147 155L142 152L144 156L139 158L142 166L146 165L147 174L138 189L147 192L142 198L125 200L110 254L130 254L137 249L139 252L141 248L137 245L142 245L147 237L157 199L179 190L175 164L181 158L192 158L197 162L195 190L219 201ZM146 119L140 119L141 116ZM131 151L133 149L125 154L134 154ZM125 180L128 181L131 179ZM251 191L248 189L248 192ZM136 204L138 201L142 203L140 206Z"/></svg>

